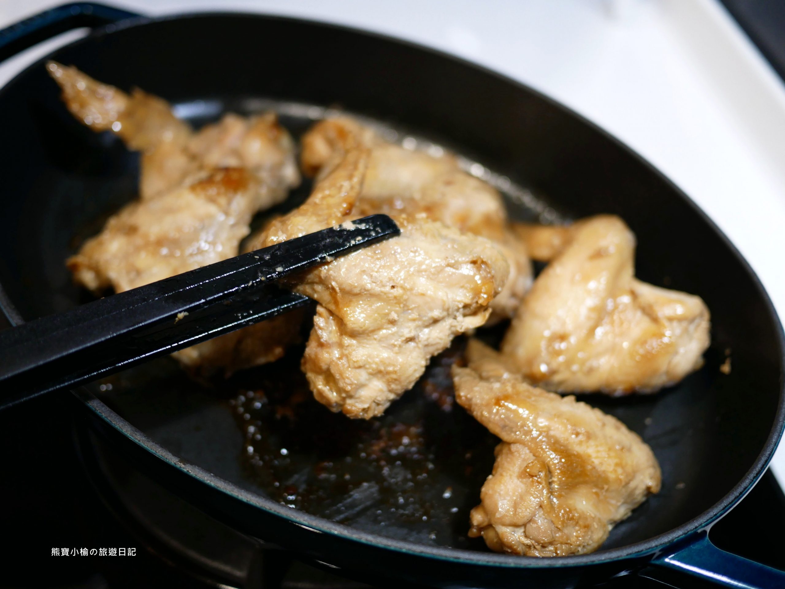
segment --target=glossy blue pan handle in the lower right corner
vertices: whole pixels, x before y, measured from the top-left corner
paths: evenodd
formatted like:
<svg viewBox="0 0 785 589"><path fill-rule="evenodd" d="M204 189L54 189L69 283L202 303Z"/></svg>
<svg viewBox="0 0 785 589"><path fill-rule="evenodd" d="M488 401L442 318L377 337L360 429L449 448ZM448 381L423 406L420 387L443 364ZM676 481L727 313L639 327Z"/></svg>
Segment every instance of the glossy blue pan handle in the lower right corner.
<svg viewBox="0 0 785 589"><path fill-rule="evenodd" d="M705 531L674 545L651 564L734 589L785 587L785 572L720 550Z"/></svg>

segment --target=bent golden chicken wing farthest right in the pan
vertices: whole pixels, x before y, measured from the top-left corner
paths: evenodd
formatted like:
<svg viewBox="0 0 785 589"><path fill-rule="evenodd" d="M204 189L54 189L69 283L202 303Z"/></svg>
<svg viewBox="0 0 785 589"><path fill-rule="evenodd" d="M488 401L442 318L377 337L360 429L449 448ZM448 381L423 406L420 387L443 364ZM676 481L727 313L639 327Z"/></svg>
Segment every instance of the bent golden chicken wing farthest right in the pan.
<svg viewBox="0 0 785 589"><path fill-rule="evenodd" d="M550 252L502 342L526 380L618 395L658 391L703 365L706 304L634 278L635 236L623 220L593 216L553 235L563 249Z"/></svg>

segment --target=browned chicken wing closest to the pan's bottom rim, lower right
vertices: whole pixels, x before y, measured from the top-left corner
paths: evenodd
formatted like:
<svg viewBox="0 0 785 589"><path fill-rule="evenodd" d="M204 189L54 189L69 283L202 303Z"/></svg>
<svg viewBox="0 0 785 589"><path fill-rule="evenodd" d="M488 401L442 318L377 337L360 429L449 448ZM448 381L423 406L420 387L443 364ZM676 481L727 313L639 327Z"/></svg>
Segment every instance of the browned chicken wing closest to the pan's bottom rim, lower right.
<svg viewBox="0 0 785 589"><path fill-rule="evenodd" d="M469 536L497 552L586 554L659 491L652 449L615 417L531 387L476 340L467 356L453 367L455 398L502 438Z"/></svg>

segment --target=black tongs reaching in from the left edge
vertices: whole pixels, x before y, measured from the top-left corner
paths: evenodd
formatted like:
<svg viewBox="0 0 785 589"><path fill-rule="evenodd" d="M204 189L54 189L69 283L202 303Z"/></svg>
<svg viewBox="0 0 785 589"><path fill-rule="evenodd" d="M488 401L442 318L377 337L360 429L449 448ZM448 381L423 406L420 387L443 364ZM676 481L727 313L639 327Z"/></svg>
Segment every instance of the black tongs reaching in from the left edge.
<svg viewBox="0 0 785 589"><path fill-rule="evenodd" d="M399 233L389 216L367 216L6 329L0 407L308 304L274 282Z"/></svg>

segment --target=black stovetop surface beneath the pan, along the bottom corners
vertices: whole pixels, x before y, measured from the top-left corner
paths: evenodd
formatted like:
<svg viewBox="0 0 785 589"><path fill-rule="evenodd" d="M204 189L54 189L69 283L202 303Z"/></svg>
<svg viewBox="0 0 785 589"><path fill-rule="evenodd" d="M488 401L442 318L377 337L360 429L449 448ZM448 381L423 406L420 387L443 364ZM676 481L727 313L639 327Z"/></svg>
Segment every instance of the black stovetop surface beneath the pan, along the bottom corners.
<svg viewBox="0 0 785 589"><path fill-rule="evenodd" d="M76 449L77 410L71 394L60 393L0 412L0 447L5 449L0 464L0 530L5 540L0 549L0 562L5 564L0 586L216 587L204 576L203 580L195 578L199 571L174 562L161 546L132 531L111 504L104 503ZM710 538L727 551L785 569L783 526L785 495L767 471L747 497L714 526ZM86 555L82 555L82 548ZM125 549L124 555L120 549ZM260 562L266 563L265 582L258 578L254 582L265 589L363 587L291 561L280 551ZM632 576L608 584L612 589L668 586L706 585Z"/></svg>

